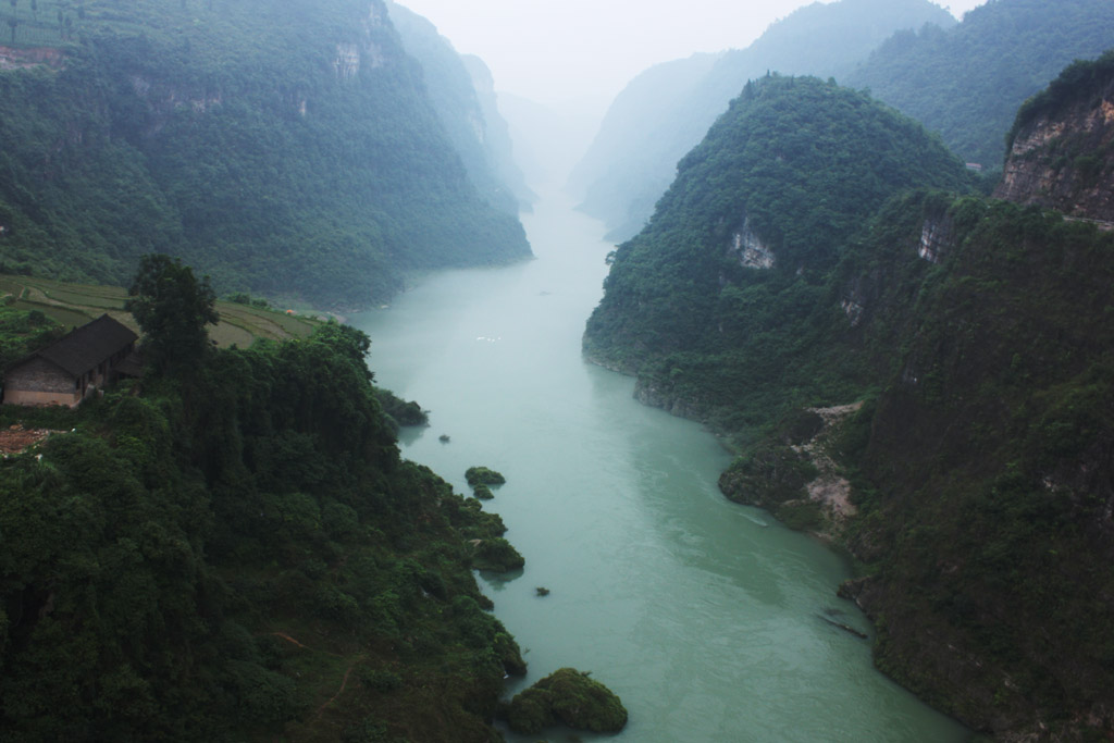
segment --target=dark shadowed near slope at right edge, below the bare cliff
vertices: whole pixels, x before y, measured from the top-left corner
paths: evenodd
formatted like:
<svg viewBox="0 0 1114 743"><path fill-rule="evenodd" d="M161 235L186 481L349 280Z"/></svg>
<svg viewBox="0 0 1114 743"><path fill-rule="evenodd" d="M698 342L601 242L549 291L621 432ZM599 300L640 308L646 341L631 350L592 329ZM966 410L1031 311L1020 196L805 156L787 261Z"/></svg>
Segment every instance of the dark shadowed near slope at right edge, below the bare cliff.
<svg viewBox="0 0 1114 743"><path fill-rule="evenodd" d="M879 666L979 727L1075 740L1114 710L1114 235L973 198L883 219L858 290L885 387L843 457ZM926 221L950 225L939 264L912 257Z"/></svg>

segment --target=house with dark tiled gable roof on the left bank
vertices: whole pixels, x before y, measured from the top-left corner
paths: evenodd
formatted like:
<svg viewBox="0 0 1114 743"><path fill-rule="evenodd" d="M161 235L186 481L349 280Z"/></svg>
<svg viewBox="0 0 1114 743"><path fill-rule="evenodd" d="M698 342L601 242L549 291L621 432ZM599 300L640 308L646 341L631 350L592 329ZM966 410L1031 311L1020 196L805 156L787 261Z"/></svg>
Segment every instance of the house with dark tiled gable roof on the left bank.
<svg viewBox="0 0 1114 743"><path fill-rule="evenodd" d="M4 373L3 402L74 407L123 374L136 374L131 330L100 315L12 364Z"/></svg>

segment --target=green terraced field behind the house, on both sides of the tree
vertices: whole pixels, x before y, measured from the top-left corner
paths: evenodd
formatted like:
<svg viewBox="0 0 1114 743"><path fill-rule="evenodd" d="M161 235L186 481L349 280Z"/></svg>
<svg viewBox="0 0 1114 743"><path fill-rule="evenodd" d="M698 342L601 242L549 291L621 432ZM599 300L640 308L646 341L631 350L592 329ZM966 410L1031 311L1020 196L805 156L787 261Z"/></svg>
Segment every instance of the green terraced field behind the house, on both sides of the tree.
<svg viewBox="0 0 1114 743"><path fill-rule="evenodd" d="M0 297L16 297L14 306L40 310L62 325L84 325L108 313L139 332L131 314L124 311L127 292L120 286L67 284L32 276L0 274ZM264 310L262 307L217 302L221 322L209 329L217 345L250 345L257 338L283 340L309 335L321 322L311 315Z"/></svg>

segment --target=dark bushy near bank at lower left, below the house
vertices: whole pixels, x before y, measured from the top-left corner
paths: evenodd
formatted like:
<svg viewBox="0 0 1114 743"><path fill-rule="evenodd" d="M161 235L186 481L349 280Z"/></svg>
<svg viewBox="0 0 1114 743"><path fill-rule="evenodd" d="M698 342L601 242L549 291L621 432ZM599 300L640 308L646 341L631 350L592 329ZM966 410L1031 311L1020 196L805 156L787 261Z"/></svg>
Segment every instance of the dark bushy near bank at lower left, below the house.
<svg viewBox="0 0 1114 743"><path fill-rule="evenodd" d="M0 463L0 740L497 736L525 667L471 568L506 529L400 458L367 348L324 324L0 411L67 431Z"/></svg>

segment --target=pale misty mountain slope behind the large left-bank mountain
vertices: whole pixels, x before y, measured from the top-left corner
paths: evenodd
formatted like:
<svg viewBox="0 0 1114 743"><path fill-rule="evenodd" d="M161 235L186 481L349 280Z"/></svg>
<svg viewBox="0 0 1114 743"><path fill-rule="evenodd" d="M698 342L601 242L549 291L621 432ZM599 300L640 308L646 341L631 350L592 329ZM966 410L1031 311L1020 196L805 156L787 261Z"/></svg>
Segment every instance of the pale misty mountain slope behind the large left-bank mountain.
<svg viewBox="0 0 1114 743"><path fill-rule="evenodd" d="M491 72L481 60L466 61L427 19L394 2L388 2L387 8L407 53L421 63L430 101L472 183L492 205L518 214L519 195L525 194L526 184L514 165L507 123L494 105ZM479 68L487 71L482 91L491 98L485 101L487 105L480 101L473 68L481 78Z"/></svg>

